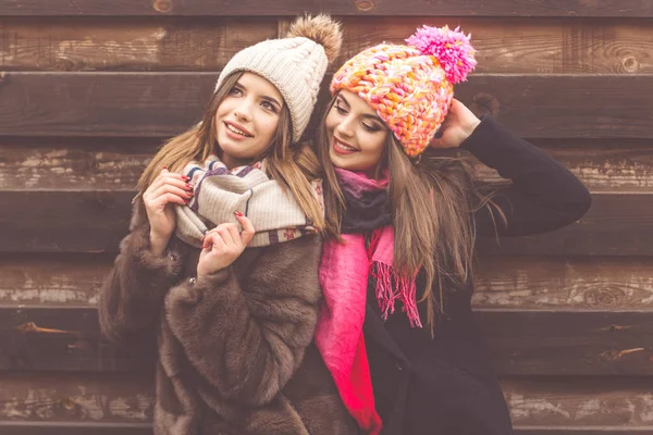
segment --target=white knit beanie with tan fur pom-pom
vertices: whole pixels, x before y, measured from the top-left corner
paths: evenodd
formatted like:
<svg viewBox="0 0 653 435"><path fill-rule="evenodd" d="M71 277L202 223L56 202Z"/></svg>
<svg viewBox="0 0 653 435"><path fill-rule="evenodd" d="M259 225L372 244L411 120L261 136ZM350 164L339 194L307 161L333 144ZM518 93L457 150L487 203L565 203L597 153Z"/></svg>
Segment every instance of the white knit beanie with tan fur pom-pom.
<svg viewBox="0 0 653 435"><path fill-rule="evenodd" d="M338 54L342 30L329 15L297 18L283 39L268 39L238 51L220 73L215 90L230 74L248 71L267 78L283 96L293 123L293 141L308 125L326 65Z"/></svg>

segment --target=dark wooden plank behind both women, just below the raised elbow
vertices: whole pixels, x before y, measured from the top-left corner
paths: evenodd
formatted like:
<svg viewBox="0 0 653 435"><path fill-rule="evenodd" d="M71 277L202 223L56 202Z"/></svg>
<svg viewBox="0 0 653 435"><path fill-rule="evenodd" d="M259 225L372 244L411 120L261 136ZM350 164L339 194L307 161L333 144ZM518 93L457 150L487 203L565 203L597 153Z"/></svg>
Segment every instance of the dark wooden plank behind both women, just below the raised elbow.
<svg viewBox="0 0 653 435"><path fill-rule="evenodd" d="M133 191L0 191L0 252L115 252L126 235ZM49 217L44 225L42 216ZM481 254L651 256L648 195L596 194L565 228L528 237L481 238Z"/></svg>

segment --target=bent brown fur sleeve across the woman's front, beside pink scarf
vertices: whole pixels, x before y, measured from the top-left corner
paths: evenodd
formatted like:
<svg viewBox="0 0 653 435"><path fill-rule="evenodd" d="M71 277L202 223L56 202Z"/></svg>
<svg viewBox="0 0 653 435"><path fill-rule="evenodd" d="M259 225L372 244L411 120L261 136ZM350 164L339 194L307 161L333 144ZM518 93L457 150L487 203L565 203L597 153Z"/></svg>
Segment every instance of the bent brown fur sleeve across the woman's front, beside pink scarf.
<svg viewBox="0 0 653 435"><path fill-rule="evenodd" d="M320 252L320 238L305 236L262 248L247 271L236 262L170 290L168 323L223 397L267 403L298 369L317 322Z"/></svg>

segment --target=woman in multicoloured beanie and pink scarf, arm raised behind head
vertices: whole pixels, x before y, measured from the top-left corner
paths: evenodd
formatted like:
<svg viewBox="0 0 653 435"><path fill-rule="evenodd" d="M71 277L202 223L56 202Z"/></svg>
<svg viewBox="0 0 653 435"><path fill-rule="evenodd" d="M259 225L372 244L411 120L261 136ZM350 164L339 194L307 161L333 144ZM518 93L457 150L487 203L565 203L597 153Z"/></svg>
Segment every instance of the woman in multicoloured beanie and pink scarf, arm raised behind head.
<svg viewBox="0 0 653 435"><path fill-rule="evenodd" d="M469 39L423 26L331 83L316 343L366 434L512 433L472 318L475 241L550 232L590 206L563 165L453 98L476 66ZM513 183L484 189L469 154Z"/></svg>

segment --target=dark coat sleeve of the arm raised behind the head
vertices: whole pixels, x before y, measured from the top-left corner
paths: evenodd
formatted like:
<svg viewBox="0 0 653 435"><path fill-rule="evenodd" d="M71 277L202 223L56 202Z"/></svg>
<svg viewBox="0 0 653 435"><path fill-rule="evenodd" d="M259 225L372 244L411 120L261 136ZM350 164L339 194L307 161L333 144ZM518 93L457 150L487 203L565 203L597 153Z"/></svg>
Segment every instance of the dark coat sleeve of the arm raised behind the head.
<svg viewBox="0 0 653 435"><path fill-rule="evenodd" d="M525 236L558 229L582 217L590 208L590 192L574 174L489 116L461 148L513 182L496 191L494 206L475 214L480 236Z"/></svg>

